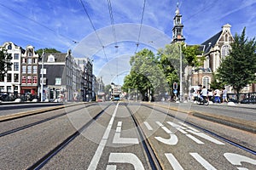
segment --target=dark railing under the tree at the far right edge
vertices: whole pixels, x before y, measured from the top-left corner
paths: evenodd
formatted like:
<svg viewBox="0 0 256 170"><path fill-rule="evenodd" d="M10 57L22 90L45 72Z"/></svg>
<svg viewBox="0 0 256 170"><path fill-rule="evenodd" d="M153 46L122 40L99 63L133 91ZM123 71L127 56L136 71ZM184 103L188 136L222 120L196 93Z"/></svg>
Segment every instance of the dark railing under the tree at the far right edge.
<svg viewBox="0 0 256 170"><path fill-rule="evenodd" d="M256 104L256 93L248 93L248 94L227 94L227 98L229 101L241 104Z"/></svg>

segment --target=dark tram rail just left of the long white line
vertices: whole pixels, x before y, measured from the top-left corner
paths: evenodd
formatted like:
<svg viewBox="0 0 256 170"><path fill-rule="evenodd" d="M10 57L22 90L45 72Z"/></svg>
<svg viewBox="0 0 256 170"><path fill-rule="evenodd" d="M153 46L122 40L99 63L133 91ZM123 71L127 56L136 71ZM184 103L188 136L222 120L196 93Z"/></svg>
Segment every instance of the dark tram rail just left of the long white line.
<svg viewBox="0 0 256 170"><path fill-rule="evenodd" d="M110 104L112 105L112 104ZM84 124L83 127L80 127L79 130L77 130L75 133L73 133L72 135L70 135L69 137L67 137L67 139L65 139L64 141L61 142L61 144L58 144L53 150L50 150L48 152L48 154L46 154L45 156L43 156L40 160L38 160L37 162L35 162L31 167L28 167L27 169L29 170L34 170L34 169L40 169L42 167L44 167L44 165L53 157L55 156L60 150L62 150L63 148L65 148L67 146L67 144L69 144L70 142L73 141L73 139L76 139L80 132L83 132L87 127L90 126L90 124L92 122L95 122L97 118L99 118L99 116L102 116L102 113L104 111L106 111L108 109L108 107L110 105L107 105L102 111L100 111L98 114L96 114L96 116L92 117L92 119L90 119L89 122L86 122Z"/></svg>

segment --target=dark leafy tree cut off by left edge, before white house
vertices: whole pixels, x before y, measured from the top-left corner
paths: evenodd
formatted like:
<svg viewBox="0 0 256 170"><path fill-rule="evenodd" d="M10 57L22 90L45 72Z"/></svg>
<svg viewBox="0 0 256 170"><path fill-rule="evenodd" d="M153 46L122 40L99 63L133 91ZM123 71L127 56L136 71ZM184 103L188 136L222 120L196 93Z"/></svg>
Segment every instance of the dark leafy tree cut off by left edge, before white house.
<svg viewBox="0 0 256 170"><path fill-rule="evenodd" d="M3 78L6 76L8 68L13 65L11 63L12 56L7 53L7 50L2 48L0 50L0 77Z"/></svg>

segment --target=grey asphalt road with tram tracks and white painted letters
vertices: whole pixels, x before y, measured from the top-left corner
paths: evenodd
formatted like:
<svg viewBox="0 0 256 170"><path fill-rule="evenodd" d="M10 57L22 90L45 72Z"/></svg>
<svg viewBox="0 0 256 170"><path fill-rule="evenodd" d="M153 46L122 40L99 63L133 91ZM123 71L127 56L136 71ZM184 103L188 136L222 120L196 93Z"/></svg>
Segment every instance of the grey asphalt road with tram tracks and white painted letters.
<svg viewBox="0 0 256 170"><path fill-rule="evenodd" d="M144 139L127 107L136 117L163 169L256 167L255 133L172 111L159 104L105 102L0 122L1 134L24 127L0 136L0 169L31 167L78 130L79 135L55 151L42 169L154 169L144 149ZM214 110L223 112L223 109L216 107ZM234 112L236 108L225 111ZM251 114L251 110L247 111ZM32 123L35 124L26 127ZM242 150L218 136L254 152Z"/></svg>

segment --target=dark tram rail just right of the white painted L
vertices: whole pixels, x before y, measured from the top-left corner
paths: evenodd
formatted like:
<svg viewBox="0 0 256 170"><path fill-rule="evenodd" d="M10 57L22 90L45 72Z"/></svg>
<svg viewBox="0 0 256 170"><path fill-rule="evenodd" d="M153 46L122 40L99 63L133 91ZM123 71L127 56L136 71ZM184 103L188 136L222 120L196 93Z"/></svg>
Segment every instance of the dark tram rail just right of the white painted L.
<svg viewBox="0 0 256 170"><path fill-rule="evenodd" d="M146 154L148 156L148 161L149 161L150 166L152 167L152 169L163 169L162 166L160 165L160 161L158 160L157 156L154 154L154 150L153 150L151 144L149 144L148 139L146 138L146 135L143 133L143 129L139 126L137 118L133 115L133 113L129 109L129 107L127 105L125 105L125 106L126 106L127 110L130 112L131 118L137 127L137 131L138 131L140 138L142 139L141 141L143 144L143 148L146 151Z"/></svg>

